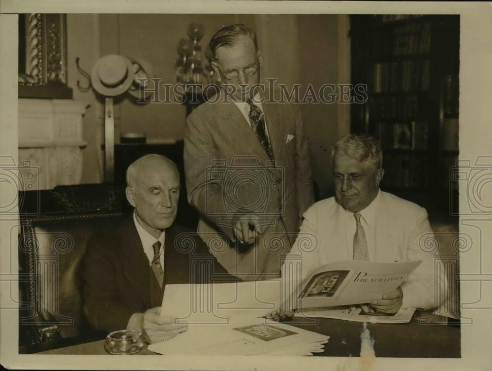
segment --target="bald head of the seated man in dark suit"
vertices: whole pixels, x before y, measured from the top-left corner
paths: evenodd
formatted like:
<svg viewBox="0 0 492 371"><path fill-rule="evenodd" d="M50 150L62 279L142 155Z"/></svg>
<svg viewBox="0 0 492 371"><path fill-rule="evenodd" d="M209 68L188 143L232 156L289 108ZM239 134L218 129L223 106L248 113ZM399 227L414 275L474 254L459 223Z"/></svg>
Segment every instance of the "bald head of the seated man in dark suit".
<svg viewBox="0 0 492 371"><path fill-rule="evenodd" d="M158 238L176 219L180 172L161 155L145 155L126 170L126 198L135 208L137 221Z"/></svg>

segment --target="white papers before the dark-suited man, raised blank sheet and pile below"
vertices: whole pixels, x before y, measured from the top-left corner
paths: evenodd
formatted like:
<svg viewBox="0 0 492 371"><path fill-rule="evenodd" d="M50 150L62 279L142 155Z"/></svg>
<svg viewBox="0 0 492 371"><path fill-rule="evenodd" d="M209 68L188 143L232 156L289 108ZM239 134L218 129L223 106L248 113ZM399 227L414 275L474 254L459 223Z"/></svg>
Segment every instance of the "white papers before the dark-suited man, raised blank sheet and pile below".
<svg viewBox="0 0 492 371"><path fill-rule="evenodd" d="M167 285L161 315L188 330L149 345L165 355L312 355L328 336L258 318L278 308L279 280Z"/></svg>

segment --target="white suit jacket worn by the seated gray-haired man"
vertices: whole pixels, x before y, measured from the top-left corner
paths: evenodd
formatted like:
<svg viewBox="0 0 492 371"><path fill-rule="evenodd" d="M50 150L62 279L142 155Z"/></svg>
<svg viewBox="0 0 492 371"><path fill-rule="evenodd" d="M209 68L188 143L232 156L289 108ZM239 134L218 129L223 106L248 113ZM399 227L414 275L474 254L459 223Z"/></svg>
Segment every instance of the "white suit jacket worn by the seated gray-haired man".
<svg viewBox="0 0 492 371"><path fill-rule="evenodd" d="M401 285L403 308L430 309L444 300L446 278L439 274L434 280L436 257L425 250L426 239L432 237L425 208L380 191L375 217L374 262L422 260ZM305 278L313 268L352 260L347 238L346 211L335 198L314 203L304 214L299 235L282 266L282 278L294 278L296 274ZM302 259L302 273L295 273L293 265L288 267L288 264L299 259ZM438 296L434 287L440 290ZM435 303L435 297L440 298L439 303Z"/></svg>

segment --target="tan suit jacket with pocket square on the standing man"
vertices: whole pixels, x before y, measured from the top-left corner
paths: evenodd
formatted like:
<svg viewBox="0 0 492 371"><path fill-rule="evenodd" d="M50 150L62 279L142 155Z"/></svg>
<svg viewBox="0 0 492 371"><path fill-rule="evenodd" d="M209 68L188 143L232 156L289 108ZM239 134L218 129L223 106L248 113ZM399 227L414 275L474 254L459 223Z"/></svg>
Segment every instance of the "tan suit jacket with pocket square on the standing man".
<svg viewBox="0 0 492 371"><path fill-rule="evenodd" d="M265 97L262 108L275 166L269 164L270 158L245 117L230 97L224 98L223 91L211 100L214 103L205 102L188 116L184 135L186 188L189 203L201 215L198 232L224 268L250 278L279 274L278 258L289 252L302 215L314 202L299 108L268 102L268 94ZM244 169L253 173L250 183L239 178ZM215 176L220 172L223 176ZM239 174L237 181L232 179L235 174ZM261 180L254 181L258 176L266 188L258 186ZM252 205L251 211L273 220L274 225L258 238L256 246L230 243L234 223L229 220L245 213L238 204ZM214 248L219 240L220 246Z"/></svg>

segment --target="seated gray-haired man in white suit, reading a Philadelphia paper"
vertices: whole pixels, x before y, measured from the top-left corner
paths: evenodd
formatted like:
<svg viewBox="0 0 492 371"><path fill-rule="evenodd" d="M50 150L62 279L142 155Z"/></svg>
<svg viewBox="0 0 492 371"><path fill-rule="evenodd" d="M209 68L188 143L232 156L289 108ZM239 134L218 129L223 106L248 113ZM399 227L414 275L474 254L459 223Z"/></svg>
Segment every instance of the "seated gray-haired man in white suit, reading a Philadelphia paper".
<svg viewBox="0 0 492 371"><path fill-rule="evenodd" d="M434 300L434 285L444 293L446 278L439 275L434 279L435 257L421 248L421 237L432 236L427 211L379 190L382 162L376 139L350 134L338 140L332 149L335 197L314 203L304 214L297 240L282 267L282 279L292 278L287 275L295 271L288 267L289 257L300 257L301 278L313 268L337 261L422 260L396 291L363 305L363 309L383 313L396 313L400 307L431 309L440 304ZM306 249L306 243L316 247ZM269 318L292 315L292 311L277 309Z"/></svg>

